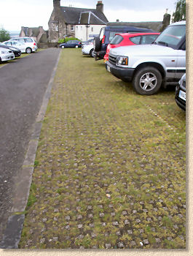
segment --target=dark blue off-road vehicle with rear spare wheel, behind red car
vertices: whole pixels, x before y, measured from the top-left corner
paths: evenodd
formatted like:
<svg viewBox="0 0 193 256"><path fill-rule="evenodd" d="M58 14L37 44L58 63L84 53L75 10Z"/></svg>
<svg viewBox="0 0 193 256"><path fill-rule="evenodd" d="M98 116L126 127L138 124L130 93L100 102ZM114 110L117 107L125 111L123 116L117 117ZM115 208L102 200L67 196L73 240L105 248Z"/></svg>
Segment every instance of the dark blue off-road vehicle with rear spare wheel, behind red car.
<svg viewBox="0 0 193 256"><path fill-rule="evenodd" d="M100 31L98 37L94 38L95 60L103 59L106 54L107 45L117 33L153 33L152 29L138 28L135 26L106 26Z"/></svg>

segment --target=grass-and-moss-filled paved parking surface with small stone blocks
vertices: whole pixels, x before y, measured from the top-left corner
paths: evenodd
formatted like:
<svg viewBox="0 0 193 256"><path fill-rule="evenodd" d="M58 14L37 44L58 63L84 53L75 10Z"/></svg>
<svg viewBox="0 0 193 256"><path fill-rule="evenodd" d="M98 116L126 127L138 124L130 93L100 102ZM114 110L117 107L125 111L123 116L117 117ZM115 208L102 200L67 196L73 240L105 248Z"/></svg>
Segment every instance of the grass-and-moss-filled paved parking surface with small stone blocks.
<svg viewBox="0 0 193 256"><path fill-rule="evenodd" d="M20 248L185 248L185 113L64 49Z"/></svg>

